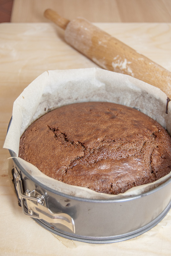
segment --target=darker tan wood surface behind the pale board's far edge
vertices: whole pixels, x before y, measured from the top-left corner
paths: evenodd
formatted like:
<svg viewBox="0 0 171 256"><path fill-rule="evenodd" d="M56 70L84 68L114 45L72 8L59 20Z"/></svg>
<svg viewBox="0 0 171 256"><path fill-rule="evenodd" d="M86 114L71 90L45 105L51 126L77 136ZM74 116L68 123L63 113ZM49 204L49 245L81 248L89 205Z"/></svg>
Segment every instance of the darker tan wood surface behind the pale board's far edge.
<svg viewBox="0 0 171 256"><path fill-rule="evenodd" d="M171 22L170 0L14 0L11 22L47 22L46 9L91 22Z"/></svg>

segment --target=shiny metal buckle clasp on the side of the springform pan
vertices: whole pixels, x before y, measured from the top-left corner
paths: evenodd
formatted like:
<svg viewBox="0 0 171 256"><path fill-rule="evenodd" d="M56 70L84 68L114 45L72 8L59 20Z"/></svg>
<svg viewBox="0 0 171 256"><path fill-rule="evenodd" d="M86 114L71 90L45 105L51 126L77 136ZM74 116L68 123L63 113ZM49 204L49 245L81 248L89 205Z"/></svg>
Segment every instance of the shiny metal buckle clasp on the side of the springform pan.
<svg viewBox="0 0 171 256"><path fill-rule="evenodd" d="M75 224L71 216L66 213L53 213L46 206L46 200L44 195L41 195L36 190L30 192L26 190L26 195L23 192L22 180L20 174L15 170L14 179L18 193L18 197L21 200L21 206L23 213L32 218L43 219L49 223L60 223L68 227L75 233ZM27 208L25 206L27 204Z"/></svg>

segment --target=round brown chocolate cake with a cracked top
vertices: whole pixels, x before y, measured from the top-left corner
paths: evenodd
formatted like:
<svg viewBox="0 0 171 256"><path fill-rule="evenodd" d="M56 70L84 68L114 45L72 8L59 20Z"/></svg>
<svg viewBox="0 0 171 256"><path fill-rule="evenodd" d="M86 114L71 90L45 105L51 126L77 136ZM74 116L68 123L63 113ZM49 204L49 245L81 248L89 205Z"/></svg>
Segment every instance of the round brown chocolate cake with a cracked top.
<svg viewBox="0 0 171 256"><path fill-rule="evenodd" d="M136 109L75 103L28 127L20 138L19 157L59 181L118 194L171 171L171 138Z"/></svg>

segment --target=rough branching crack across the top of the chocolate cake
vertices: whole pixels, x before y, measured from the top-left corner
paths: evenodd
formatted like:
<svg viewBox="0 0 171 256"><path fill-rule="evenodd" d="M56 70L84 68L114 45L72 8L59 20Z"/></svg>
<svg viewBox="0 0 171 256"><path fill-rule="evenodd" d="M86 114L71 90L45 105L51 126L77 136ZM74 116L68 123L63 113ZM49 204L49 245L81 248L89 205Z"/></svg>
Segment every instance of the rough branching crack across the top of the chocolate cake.
<svg viewBox="0 0 171 256"><path fill-rule="evenodd" d="M155 134L156 132L152 132L152 134L149 135L149 138L151 138L151 141L149 142L148 140L145 140L145 141L142 140L142 146L141 146L140 140L130 142L130 141L122 141L120 138L119 142L116 142L115 139L106 141L105 140L106 136L105 136L103 138L103 140L99 142L101 144L101 146L98 146L97 148L92 149L92 148L85 147L84 143L82 143L80 141L77 141L77 143L74 141L69 141L69 139L67 138L67 135L64 132L61 132L58 127L54 128L54 127L50 127L48 125L48 128L54 133L55 139L61 141L61 137L62 137L65 142L67 141L68 143L71 143L75 147L77 147L77 146L83 147L84 155L76 156L74 159L71 160L70 164L65 167L65 173L63 174L62 181L64 181L64 176L67 175L68 169L72 169L76 165L80 165L80 164L87 165L91 168L94 164L96 164L97 162L104 160L104 159L105 160L107 160L107 159L115 159L116 160L116 159L122 159L122 158L127 158L127 157L135 157L135 155L137 157L138 156L140 157L140 155L141 155L144 158L144 155L145 155L144 150L146 148L147 143L154 144L153 139L156 140L156 137L157 137ZM58 135L56 132L58 132ZM139 147L137 147L137 145L136 145L137 143L140 144ZM104 155L99 154L100 151L101 151L100 153L102 153L103 150L106 149L106 146L107 147L112 146L112 150L114 151L114 154L111 154L111 151L109 151L109 150L107 150L107 154L104 154ZM122 155L121 155L121 148L122 148ZM125 148L129 148L130 151L128 152ZM125 152L124 152L124 149L125 149ZM147 168L148 167L151 168L151 174L156 179L156 174L155 174L153 166L152 166L152 158L151 158L153 152L154 152L154 149L150 155L150 164L146 164L146 165L147 165ZM97 159L96 156L98 154L101 157ZM145 161L145 159L144 159L144 161ZM135 182L133 182L133 185L135 186ZM112 187L111 187L111 189L112 189Z"/></svg>

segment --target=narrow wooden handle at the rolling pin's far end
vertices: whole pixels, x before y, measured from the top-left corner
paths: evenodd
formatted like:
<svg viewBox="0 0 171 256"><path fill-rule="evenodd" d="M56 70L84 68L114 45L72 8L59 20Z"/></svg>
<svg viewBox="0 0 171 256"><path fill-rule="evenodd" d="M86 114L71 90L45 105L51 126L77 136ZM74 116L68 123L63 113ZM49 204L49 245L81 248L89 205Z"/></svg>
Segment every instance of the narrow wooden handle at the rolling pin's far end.
<svg viewBox="0 0 171 256"><path fill-rule="evenodd" d="M68 23L70 22L70 20L67 20L64 17L61 17L56 11L53 11L51 9L47 9L44 12L44 16L48 20L53 21L55 24L57 24L62 29L66 29Z"/></svg>

